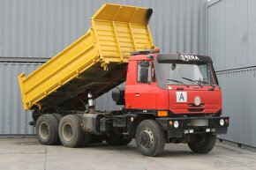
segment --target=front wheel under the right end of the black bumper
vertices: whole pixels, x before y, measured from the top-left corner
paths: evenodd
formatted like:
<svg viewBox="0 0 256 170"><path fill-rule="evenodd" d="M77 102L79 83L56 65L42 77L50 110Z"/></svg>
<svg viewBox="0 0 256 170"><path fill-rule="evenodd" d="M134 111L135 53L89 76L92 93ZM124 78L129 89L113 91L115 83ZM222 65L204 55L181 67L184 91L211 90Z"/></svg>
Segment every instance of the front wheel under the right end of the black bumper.
<svg viewBox="0 0 256 170"><path fill-rule="evenodd" d="M197 140L192 143L188 143L189 148L192 152L196 153L207 153L214 149L216 142L216 135L213 133L205 133L198 135Z"/></svg>

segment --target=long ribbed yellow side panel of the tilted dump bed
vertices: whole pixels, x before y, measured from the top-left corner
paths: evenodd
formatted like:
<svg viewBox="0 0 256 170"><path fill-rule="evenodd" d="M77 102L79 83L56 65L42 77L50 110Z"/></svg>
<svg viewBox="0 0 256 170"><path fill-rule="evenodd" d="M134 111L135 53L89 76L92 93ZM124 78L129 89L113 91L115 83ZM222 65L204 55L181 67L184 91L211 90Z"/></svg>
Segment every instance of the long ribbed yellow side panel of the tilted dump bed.
<svg viewBox="0 0 256 170"><path fill-rule="evenodd" d="M32 107L34 103L55 92L72 78L76 78L98 60L99 55L94 48L93 33L89 31L28 77L19 77L20 84L23 86L23 100L26 99L24 107L26 109Z"/></svg>

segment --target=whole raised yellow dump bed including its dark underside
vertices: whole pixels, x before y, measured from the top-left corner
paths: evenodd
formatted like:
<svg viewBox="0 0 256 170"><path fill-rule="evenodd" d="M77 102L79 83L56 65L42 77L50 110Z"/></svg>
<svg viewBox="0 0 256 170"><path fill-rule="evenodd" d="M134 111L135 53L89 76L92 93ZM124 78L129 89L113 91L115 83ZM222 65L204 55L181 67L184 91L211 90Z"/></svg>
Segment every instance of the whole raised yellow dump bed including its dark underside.
<svg viewBox="0 0 256 170"><path fill-rule="evenodd" d="M123 83L130 53L153 46L151 14L147 8L104 4L78 41L27 77L19 75L24 108L83 107L88 91L96 98Z"/></svg>

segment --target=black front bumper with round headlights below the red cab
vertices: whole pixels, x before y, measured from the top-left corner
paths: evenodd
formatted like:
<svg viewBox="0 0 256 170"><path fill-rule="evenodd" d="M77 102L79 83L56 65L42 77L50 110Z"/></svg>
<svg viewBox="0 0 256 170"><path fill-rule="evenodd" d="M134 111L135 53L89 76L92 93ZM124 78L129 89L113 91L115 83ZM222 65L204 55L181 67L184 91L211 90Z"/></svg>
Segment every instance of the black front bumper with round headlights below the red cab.
<svg viewBox="0 0 256 170"><path fill-rule="evenodd" d="M156 118L159 126L167 131L167 137L184 137L185 135L212 132L214 134L226 134L229 127L230 117L228 116L183 116L183 117L161 117ZM221 125L220 121L224 124ZM174 126L178 122L178 126ZM204 123L198 123L204 122ZM177 123L176 123L177 125Z"/></svg>

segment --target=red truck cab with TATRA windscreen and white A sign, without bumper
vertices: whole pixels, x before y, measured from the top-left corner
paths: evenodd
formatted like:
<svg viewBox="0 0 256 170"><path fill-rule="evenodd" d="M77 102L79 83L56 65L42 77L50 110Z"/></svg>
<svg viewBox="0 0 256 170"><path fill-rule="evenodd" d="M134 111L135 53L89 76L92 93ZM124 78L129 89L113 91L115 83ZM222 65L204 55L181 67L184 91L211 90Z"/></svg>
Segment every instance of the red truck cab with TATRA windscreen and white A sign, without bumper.
<svg viewBox="0 0 256 170"><path fill-rule="evenodd" d="M125 108L168 111L173 115L222 113L222 92L208 56L184 60L179 54L132 55L129 60ZM146 81L141 80L146 70Z"/></svg>

